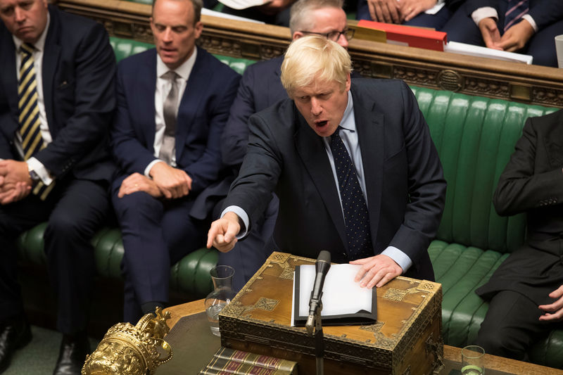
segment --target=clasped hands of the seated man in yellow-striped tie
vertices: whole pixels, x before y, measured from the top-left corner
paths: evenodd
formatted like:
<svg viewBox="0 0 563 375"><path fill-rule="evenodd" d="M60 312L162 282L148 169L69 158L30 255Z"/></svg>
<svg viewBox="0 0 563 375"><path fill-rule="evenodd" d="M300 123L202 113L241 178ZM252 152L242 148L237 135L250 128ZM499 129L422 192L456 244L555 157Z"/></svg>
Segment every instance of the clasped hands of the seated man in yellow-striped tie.
<svg viewBox="0 0 563 375"><path fill-rule="evenodd" d="M0 204L7 205L22 200L31 192L32 181L27 163L0 160Z"/></svg>

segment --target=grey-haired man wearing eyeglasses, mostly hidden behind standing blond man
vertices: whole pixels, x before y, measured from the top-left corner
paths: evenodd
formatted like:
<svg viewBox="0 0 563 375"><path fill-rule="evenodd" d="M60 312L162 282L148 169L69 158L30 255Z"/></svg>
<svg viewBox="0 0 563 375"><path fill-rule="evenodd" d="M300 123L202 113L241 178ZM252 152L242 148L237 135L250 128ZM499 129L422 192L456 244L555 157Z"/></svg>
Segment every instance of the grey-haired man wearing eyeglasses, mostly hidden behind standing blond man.
<svg viewBox="0 0 563 375"><path fill-rule="evenodd" d="M347 49L348 41L352 39L354 30L348 30L346 13L342 6L342 0L297 1L291 8L289 22L292 39L317 34L337 42ZM231 106L229 120L222 134L222 159L233 169L229 184L239 173L246 153L248 117L287 98L286 90L281 85L279 78L283 61L284 57L279 56L269 61L255 63L246 68L244 72L239 92ZM236 290L246 284L246 281L272 253L274 246L267 242L274 230L277 210L277 197L272 195L272 201L264 215L257 222L252 223L254 230L251 235L237 243L234 250L220 254L219 263L230 265L235 269L233 286Z"/></svg>

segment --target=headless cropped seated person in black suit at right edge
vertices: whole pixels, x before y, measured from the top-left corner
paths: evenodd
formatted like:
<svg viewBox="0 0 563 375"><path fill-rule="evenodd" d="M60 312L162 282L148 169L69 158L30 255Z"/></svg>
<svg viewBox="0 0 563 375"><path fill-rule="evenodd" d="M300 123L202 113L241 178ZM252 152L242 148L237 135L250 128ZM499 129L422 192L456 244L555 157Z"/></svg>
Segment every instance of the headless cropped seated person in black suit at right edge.
<svg viewBox="0 0 563 375"><path fill-rule="evenodd" d="M530 345L563 328L563 110L530 117L493 203L499 215L526 212L526 243L476 290L491 300L476 345L526 360Z"/></svg>

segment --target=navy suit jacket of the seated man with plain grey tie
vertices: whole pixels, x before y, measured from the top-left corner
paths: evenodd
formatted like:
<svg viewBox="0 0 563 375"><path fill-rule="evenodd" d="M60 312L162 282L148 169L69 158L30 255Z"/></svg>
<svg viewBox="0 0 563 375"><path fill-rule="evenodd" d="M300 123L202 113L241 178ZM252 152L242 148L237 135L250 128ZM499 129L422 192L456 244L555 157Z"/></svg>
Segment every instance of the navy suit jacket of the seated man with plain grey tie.
<svg viewBox="0 0 563 375"><path fill-rule="evenodd" d="M112 139L115 160L125 174L144 174L146 166L155 159L156 79L156 49L120 62ZM191 177L190 194L194 196L220 178L220 139L239 80L240 75L234 70L198 48L176 125L177 167ZM206 194L214 193L207 190ZM205 214L199 213L205 217L211 206L205 205L201 208L206 210Z"/></svg>

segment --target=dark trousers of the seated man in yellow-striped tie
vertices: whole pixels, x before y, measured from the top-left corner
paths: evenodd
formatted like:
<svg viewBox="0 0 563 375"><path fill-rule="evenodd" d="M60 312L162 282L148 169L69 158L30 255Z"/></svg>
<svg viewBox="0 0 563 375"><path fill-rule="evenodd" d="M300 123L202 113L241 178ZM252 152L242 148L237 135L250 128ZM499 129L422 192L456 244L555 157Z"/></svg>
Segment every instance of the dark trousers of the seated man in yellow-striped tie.
<svg viewBox="0 0 563 375"><path fill-rule="evenodd" d="M87 180L57 182L46 201L34 195L0 206L0 321L23 314L14 240L48 221L44 249L58 313L57 329L86 328L94 274L91 238L109 210L107 187Z"/></svg>

